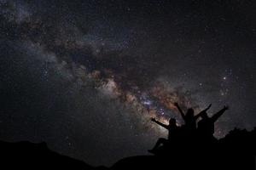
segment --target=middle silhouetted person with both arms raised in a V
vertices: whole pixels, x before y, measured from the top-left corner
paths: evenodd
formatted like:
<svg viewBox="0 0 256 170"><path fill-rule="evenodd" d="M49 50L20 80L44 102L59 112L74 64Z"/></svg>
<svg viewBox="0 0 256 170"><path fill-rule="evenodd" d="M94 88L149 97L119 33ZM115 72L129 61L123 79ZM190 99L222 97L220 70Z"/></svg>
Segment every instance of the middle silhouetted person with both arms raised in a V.
<svg viewBox="0 0 256 170"><path fill-rule="evenodd" d="M186 128L186 130L189 130L189 131L195 131L196 120L201 116L202 113L209 110L210 107L212 106L212 104L208 105L208 107L205 110L201 111L199 114L195 116L195 112L192 108L189 108L185 115L177 103L174 103L174 105L177 107L177 110L180 112L181 116L183 117L183 120L185 122L184 127Z"/></svg>

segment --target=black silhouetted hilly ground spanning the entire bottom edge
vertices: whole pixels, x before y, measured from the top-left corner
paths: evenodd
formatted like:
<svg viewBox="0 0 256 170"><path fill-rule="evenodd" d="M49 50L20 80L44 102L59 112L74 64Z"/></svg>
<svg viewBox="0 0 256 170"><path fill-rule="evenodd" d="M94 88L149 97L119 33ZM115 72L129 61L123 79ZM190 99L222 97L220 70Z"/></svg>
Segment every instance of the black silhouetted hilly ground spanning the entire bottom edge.
<svg viewBox="0 0 256 170"><path fill-rule="evenodd" d="M154 155L132 156L112 167L92 167L84 161L48 149L47 144L0 141L1 167L6 169L255 169L256 128L235 128L215 142L183 141L161 146ZM84 150L86 151L86 150ZM4 169L4 168L3 168Z"/></svg>

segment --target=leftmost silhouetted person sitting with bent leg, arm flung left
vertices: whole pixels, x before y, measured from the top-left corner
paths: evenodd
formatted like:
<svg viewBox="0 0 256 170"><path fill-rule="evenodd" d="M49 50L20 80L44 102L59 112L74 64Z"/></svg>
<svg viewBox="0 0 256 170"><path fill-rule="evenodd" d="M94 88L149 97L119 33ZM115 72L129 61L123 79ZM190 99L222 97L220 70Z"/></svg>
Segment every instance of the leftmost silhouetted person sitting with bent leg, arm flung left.
<svg viewBox="0 0 256 170"><path fill-rule="evenodd" d="M160 138L157 140L156 144L154 145L154 148L152 150L148 150L151 153L154 153L155 150L157 150L160 147L160 144L169 144L170 139L177 139L177 135L178 135L178 129L179 127L177 126L177 122L176 119L171 118L169 120L169 124L166 125L162 122L158 122L155 120L155 118L151 118L152 122L156 122L158 125L160 125L161 127L165 127L168 130L168 139L163 139Z"/></svg>

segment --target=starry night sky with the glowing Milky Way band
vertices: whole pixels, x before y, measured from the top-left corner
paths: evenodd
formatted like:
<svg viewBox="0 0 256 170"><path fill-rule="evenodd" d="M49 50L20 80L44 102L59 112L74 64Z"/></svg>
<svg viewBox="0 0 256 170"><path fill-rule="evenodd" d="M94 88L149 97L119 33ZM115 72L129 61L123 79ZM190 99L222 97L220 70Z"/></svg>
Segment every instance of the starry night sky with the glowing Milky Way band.
<svg viewBox="0 0 256 170"><path fill-rule="evenodd" d="M0 139L45 141L91 165L147 154L229 105L215 136L256 125L256 3L0 0Z"/></svg>

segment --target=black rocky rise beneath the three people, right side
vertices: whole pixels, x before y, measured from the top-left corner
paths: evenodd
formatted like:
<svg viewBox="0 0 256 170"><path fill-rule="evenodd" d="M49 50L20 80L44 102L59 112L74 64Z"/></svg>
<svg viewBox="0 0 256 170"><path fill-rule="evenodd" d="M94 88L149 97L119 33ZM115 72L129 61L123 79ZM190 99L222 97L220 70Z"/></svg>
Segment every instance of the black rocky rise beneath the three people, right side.
<svg viewBox="0 0 256 170"><path fill-rule="evenodd" d="M224 139L187 139L160 147L152 156L134 156L112 169L256 169L256 130L235 129Z"/></svg>

